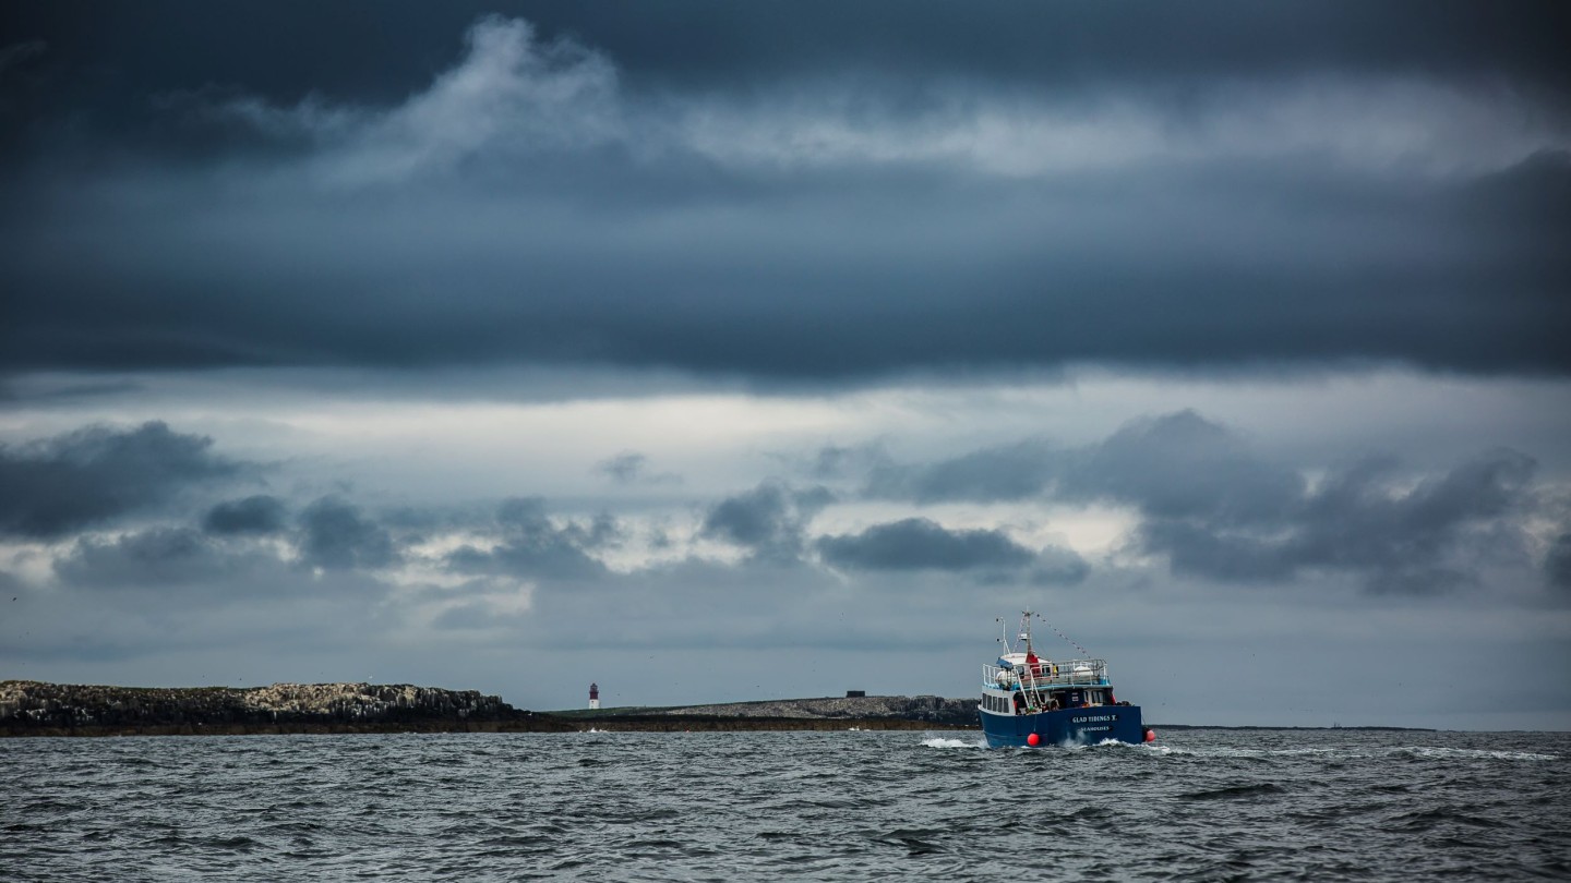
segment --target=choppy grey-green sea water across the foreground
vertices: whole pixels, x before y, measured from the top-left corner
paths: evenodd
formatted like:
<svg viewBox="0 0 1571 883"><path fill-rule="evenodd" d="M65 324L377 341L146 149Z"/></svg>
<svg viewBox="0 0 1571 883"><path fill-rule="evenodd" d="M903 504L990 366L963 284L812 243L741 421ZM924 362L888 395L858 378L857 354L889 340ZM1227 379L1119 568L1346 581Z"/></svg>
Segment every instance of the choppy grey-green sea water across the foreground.
<svg viewBox="0 0 1571 883"><path fill-rule="evenodd" d="M5 880L1571 877L1571 734L0 740Z"/></svg>

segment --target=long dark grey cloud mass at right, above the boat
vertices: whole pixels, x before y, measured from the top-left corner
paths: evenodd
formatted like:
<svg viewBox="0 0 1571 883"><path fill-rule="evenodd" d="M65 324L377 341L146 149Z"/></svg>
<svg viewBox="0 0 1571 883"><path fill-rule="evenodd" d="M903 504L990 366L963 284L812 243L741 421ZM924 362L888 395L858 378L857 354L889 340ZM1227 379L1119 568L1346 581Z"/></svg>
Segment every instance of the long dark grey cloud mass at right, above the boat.
<svg viewBox="0 0 1571 883"><path fill-rule="evenodd" d="M1395 459L1329 470L1310 484L1194 412L1133 421L1106 440L1054 449L1031 442L928 467L883 467L867 493L914 501L1128 506L1130 540L1174 572L1238 583L1346 573L1376 592L1474 586L1483 569L1529 559L1536 463L1499 449L1441 474ZM1552 567L1554 556L1551 556Z"/></svg>

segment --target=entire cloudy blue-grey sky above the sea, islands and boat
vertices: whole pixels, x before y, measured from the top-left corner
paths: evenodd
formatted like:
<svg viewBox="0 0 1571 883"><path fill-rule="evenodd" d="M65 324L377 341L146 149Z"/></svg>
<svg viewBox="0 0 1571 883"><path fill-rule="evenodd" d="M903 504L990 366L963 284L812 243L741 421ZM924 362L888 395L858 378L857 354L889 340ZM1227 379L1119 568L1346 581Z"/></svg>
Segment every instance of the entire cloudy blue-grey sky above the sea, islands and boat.
<svg viewBox="0 0 1571 883"><path fill-rule="evenodd" d="M1563 3L0 9L0 677L1571 729Z"/></svg>

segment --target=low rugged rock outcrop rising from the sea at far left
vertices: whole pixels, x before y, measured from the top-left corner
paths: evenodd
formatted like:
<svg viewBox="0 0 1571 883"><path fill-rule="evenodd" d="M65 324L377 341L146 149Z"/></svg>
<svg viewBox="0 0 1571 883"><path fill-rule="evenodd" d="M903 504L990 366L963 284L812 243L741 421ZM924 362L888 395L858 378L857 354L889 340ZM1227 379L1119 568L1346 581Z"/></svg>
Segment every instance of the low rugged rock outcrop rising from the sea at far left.
<svg viewBox="0 0 1571 883"><path fill-rule="evenodd" d="M248 732L357 724L523 723L534 715L476 690L408 683L273 683L272 687L88 687L0 682L0 732L218 727ZM375 726L372 726L375 729ZM209 731L211 732L211 731Z"/></svg>

